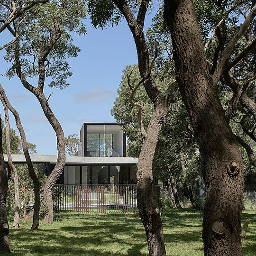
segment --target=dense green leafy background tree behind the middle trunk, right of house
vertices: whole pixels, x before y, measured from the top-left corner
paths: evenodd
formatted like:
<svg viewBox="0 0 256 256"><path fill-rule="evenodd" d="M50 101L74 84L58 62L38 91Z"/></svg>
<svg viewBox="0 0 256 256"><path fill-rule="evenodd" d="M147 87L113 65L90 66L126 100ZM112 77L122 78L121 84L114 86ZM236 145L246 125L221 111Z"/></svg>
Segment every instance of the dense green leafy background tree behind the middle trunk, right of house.
<svg viewBox="0 0 256 256"><path fill-rule="evenodd" d="M142 146L142 138L137 122L137 110L131 108L131 105L129 104L130 89L128 86L127 75L130 74L131 71L133 72L129 78L130 82L134 83L139 80L137 65L127 66L123 71L122 80L118 90L118 97L114 102L111 114L123 125L123 129L127 134L128 155L138 157ZM155 81L157 81L158 88L161 91L165 91L168 84L166 80L169 79L169 76L164 76L162 73L159 81L159 72L153 72L153 75ZM145 128L147 128L154 107L144 88L139 87L137 89L137 92L134 95L134 100L143 103L142 120ZM182 162L184 167L190 165L189 162L193 155L196 154L197 147L192 134L188 132L190 122L181 100L180 93L176 87L170 91L168 104L165 124L155 149L153 175L162 181L168 181L173 206L174 208L182 209L178 198L176 181L178 180L181 187L189 192L192 192L192 188L193 191L196 191L199 188L201 168L200 165L195 165L193 166L194 171L191 173L188 170L189 168L186 168L185 170L182 168ZM181 120L183 121L181 122ZM197 172L195 172L196 170ZM191 200L194 201L192 193L190 193L190 195Z"/></svg>

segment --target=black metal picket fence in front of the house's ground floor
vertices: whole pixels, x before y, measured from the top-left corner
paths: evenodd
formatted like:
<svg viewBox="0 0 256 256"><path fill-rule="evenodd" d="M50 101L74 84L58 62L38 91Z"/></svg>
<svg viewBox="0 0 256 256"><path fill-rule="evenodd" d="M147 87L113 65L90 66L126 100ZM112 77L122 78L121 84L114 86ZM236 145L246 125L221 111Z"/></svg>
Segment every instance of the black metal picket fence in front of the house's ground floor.
<svg viewBox="0 0 256 256"><path fill-rule="evenodd" d="M57 184L53 193L57 210L97 213L137 211L136 184Z"/></svg>

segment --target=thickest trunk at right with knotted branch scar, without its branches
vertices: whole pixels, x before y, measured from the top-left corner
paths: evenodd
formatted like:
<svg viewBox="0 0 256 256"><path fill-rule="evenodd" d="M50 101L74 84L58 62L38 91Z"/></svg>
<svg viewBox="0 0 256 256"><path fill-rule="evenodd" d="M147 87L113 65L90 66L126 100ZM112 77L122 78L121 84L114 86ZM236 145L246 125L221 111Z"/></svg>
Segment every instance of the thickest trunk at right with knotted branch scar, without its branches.
<svg viewBox="0 0 256 256"><path fill-rule="evenodd" d="M209 75L192 0L165 0L176 79L200 146L204 254L240 256L243 162Z"/></svg>

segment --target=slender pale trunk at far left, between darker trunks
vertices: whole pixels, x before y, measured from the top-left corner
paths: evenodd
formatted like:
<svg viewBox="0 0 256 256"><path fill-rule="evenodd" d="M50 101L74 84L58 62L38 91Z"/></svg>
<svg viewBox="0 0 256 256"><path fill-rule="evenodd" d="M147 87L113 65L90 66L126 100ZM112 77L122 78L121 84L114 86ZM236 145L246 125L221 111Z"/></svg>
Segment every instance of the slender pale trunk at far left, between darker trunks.
<svg viewBox="0 0 256 256"><path fill-rule="evenodd" d="M18 190L18 173L16 167L12 163L11 159L11 148L10 148L10 128L9 128L9 114L8 108L4 103L2 97L0 97L3 106L4 106L4 113L5 113L5 139L6 139L6 151L8 157L8 164L12 171L13 181L14 181L14 197L15 197L15 213L14 213L14 220L13 220L13 227L18 229L19 227L19 214L20 214L20 201L19 201L19 190Z"/></svg>

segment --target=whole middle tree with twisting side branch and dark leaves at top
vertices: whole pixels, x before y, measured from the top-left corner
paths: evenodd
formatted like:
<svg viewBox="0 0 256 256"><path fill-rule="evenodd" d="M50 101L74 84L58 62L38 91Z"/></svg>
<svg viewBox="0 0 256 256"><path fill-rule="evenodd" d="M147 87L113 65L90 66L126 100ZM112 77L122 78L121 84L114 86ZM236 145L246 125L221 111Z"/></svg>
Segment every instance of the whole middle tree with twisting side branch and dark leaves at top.
<svg viewBox="0 0 256 256"><path fill-rule="evenodd" d="M134 37L141 80L137 81L136 85L132 85L129 82L129 87L131 88L129 102L133 107L138 109L138 122L143 140L137 171L138 210L146 230L149 254L162 256L166 253L162 221L158 214L158 209L155 208L155 202L152 196L152 162L157 139L167 114L168 94L173 84L170 84L170 87L163 94L157 88L154 78L151 75L152 63L155 60L157 51L155 51L156 54L150 64L148 48L143 31L148 7L149 0L142 0L139 3L132 0L128 2L125 0L90 0L88 3L88 8L91 13L91 22L94 27L106 27L109 24L118 24L120 18L123 16ZM136 15L137 18L135 18ZM133 96L141 83L143 83L144 88L154 105L154 114L150 119L147 129L144 128L141 120L142 105L133 101Z"/></svg>

